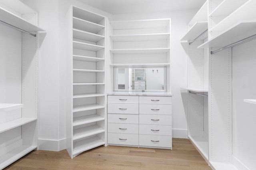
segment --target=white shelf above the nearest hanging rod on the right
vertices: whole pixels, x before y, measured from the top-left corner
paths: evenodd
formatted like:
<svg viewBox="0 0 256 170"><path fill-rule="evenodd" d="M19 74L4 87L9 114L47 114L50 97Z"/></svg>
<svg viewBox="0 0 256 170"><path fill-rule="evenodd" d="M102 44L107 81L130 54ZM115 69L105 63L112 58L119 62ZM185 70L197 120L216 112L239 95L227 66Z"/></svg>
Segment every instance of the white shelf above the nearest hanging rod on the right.
<svg viewBox="0 0 256 170"><path fill-rule="evenodd" d="M252 31L251 31L252 30ZM256 34L256 20L241 21L198 48L222 48Z"/></svg>

